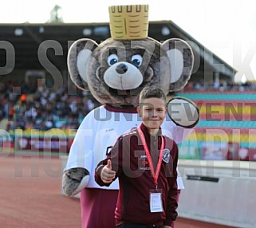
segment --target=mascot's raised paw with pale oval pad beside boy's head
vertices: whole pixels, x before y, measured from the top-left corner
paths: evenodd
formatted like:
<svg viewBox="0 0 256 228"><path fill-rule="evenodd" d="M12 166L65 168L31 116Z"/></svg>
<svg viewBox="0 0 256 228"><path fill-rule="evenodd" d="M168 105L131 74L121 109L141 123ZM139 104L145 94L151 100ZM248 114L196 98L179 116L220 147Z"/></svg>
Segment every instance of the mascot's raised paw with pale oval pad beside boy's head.
<svg viewBox="0 0 256 228"><path fill-rule="evenodd" d="M176 125L183 128L194 128L199 122L199 108L183 97L175 96L167 104L167 113Z"/></svg>

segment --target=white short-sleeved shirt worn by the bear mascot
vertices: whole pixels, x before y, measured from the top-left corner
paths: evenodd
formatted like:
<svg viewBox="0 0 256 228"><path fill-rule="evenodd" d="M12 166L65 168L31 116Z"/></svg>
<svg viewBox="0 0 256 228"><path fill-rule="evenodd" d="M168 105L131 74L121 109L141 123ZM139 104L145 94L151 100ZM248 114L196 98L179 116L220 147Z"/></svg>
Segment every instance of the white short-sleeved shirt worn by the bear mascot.
<svg viewBox="0 0 256 228"><path fill-rule="evenodd" d="M100 187L92 174L97 164L105 159L116 139L133 128L138 128L140 123L141 118L136 111L124 112L123 109L108 105L93 109L77 130L65 170L83 167L91 174L85 187L118 190L118 179L109 187ZM175 140L176 143L183 141L191 133L191 129L175 125L168 116L161 128L163 135ZM181 177L178 177L178 189L183 188Z"/></svg>

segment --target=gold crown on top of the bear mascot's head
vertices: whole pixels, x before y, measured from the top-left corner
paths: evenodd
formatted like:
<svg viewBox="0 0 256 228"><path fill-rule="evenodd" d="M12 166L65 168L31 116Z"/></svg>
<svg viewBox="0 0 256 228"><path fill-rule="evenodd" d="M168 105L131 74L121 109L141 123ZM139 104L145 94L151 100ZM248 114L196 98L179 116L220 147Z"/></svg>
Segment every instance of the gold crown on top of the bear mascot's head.
<svg viewBox="0 0 256 228"><path fill-rule="evenodd" d="M115 40L148 37L148 5L109 6L110 33Z"/></svg>

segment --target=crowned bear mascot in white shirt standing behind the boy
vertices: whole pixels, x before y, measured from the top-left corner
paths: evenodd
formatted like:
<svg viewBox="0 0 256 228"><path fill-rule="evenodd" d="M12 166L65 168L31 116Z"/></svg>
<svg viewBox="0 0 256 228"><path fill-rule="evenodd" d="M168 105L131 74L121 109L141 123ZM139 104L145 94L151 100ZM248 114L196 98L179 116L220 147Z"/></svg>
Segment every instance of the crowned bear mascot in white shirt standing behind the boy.
<svg viewBox="0 0 256 228"><path fill-rule="evenodd" d="M187 42L174 38L160 43L148 37L148 5L109 6L108 10L111 37L100 44L81 38L68 54L72 81L102 104L77 129L62 178L65 195L80 192L84 228L115 227L118 179L110 187L100 187L94 171L117 137L140 125L136 112L140 91L151 85L166 94L180 90L191 77L194 61ZM167 112L161 128L179 143L198 123L199 110L191 100L173 97ZM194 113L193 118L187 112Z"/></svg>

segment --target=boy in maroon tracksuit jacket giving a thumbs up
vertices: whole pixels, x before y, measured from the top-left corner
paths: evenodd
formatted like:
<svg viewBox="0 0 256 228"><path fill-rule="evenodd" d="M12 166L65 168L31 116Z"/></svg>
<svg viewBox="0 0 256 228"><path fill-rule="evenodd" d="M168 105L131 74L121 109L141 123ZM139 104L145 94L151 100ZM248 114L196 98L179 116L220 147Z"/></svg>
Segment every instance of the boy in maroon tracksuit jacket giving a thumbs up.
<svg viewBox="0 0 256 228"><path fill-rule="evenodd" d="M170 228L177 217L178 147L161 134L167 112L163 91L144 88L137 112L142 124L116 140L96 167L95 180L109 186L119 178L116 227Z"/></svg>

